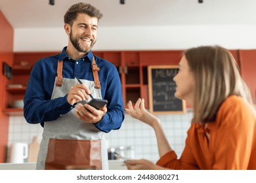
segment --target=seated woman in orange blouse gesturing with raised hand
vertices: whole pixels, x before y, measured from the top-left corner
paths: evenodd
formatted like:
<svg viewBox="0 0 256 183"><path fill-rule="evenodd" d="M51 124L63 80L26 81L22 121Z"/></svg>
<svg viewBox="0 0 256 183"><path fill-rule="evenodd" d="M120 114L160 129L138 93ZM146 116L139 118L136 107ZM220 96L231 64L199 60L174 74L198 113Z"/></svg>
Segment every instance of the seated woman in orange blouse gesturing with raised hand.
<svg viewBox="0 0 256 183"><path fill-rule="evenodd" d="M232 54L220 46L186 50L174 80L175 96L194 109L181 157L144 99L134 107L129 101L125 112L154 129L161 158L156 164L131 159L128 169L256 169L255 109Z"/></svg>

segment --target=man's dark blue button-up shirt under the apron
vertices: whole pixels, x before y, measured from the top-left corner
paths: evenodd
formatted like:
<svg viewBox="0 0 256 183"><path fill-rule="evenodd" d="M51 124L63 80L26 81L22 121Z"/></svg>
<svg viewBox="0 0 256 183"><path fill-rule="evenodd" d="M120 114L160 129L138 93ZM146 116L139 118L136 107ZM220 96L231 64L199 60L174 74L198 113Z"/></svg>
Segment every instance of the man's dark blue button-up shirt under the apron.
<svg viewBox="0 0 256 183"><path fill-rule="evenodd" d="M35 63L24 97L24 117L30 124L51 122L66 114L74 107L67 101L67 95L51 99L54 82L57 75L58 60L63 60L63 78L81 78L93 80L91 62L93 53L89 52L85 57L77 61L68 57L66 47L61 54L42 58ZM121 92L121 82L116 67L105 59L95 56L95 61L100 71L100 90L102 99L108 100L108 112L95 127L104 132L112 129L119 129L124 119L123 97Z"/></svg>

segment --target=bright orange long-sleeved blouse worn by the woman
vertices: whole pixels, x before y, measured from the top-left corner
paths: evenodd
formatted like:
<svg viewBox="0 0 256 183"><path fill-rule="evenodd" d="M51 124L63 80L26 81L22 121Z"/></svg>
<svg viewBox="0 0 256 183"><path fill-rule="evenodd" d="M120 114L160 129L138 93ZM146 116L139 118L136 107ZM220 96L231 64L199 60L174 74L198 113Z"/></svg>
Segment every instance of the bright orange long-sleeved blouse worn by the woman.
<svg viewBox="0 0 256 183"><path fill-rule="evenodd" d="M256 116L241 97L228 97L214 123L192 123L187 134L180 159L172 150L156 164L169 169L256 169Z"/></svg>

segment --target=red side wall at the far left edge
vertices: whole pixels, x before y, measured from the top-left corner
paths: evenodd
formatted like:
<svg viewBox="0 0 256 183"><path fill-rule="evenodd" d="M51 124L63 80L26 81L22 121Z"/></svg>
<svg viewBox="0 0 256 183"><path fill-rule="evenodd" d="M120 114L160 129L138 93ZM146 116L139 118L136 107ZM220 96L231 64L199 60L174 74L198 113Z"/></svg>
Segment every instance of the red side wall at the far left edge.
<svg viewBox="0 0 256 183"><path fill-rule="evenodd" d="M0 163L5 162L7 154L9 116L2 110L7 103L5 86L9 80L3 75L3 62L13 63L13 29L0 10Z"/></svg>

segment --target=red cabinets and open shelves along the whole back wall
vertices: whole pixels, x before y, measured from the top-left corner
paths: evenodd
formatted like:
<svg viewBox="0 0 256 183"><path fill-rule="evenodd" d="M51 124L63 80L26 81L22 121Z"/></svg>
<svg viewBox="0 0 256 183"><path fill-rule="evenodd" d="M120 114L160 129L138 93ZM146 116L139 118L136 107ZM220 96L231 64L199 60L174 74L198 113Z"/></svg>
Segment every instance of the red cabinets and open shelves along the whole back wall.
<svg viewBox="0 0 256 183"><path fill-rule="evenodd" d="M256 50L230 50L238 64L242 68L242 75L251 88L255 101L254 68ZM139 97L145 99L148 108L148 65L178 65L182 56L182 50L158 50L158 51L95 51L96 56L104 58L116 65L119 72L123 91L123 103L137 101ZM22 99L26 90L26 82L30 76L33 64L40 58L57 54L57 52L28 52L14 53L14 77L11 84L22 84L22 88L6 88L9 93L9 103L15 99ZM21 67L20 62L28 62L28 67ZM22 78L22 79L20 79ZM10 105L10 104L7 104ZM5 114L22 114L22 109L9 108L3 110Z"/></svg>

